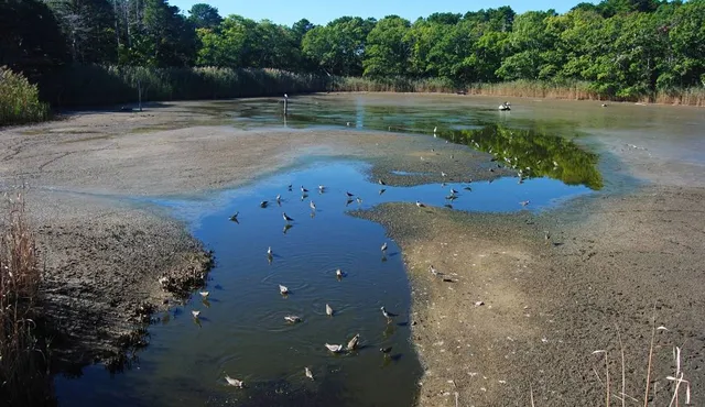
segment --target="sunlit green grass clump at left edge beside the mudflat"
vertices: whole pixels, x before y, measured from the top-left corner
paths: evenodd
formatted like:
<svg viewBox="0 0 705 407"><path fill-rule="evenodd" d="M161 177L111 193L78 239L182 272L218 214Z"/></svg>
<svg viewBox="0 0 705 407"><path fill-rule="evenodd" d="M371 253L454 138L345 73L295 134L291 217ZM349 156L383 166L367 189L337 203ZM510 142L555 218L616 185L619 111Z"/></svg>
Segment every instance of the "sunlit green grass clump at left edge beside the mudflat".
<svg viewBox="0 0 705 407"><path fill-rule="evenodd" d="M36 85L0 66L0 125L37 122L48 116L48 106L40 101Z"/></svg>

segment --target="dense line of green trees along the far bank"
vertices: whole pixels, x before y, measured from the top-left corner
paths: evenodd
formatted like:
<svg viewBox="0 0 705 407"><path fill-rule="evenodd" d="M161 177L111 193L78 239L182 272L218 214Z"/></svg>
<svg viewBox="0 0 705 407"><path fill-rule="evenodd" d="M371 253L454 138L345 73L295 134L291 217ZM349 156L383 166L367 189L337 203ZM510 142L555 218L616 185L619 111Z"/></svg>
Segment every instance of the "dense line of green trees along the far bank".
<svg viewBox="0 0 705 407"><path fill-rule="evenodd" d="M291 26L166 0L0 0L0 66L30 78L66 64L278 68L475 82L579 80L631 98L705 86L705 0L509 7L416 21L341 16Z"/></svg>

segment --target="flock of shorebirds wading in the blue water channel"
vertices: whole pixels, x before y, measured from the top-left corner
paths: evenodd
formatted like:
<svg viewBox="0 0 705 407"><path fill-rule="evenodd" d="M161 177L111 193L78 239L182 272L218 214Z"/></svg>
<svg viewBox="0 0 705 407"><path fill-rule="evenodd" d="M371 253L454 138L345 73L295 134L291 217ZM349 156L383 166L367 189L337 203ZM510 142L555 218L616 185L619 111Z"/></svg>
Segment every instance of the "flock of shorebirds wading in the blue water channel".
<svg viewBox="0 0 705 407"><path fill-rule="evenodd" d="M382 185L382 186L387 185L382 179L379 179L378 183L380 185ZM288 190L292 191L293 190L293 186L289 185ZM302 201L308 197L308 191L310 190L306 189L304 186L301 186L301 193L302 193L302 199L301 200ZM319 194L324 194L326 191L327 191L327 187L326 186L324 186L324 185L319 185L318 186L318 193ZM380 194L382 194L382 193L383 193L383 189L382 189L382 191ZM346 191L345 195L347 196L347 199L348 199L346 206L348 204L350 204L350 201L352 200L354 197L357 199L358 204L362 202L362 199L360 197L356 197L355 194ZM278 205L281 206L281 202L282 202L281 195L276 195L275 201L276 201ZM269 206L269 201L267 201L267 200L260 202L260 207L261 208L267 208L268 206ZM311 200L308 206L311 207L312 217L313 217L315 211L316 211L316 205L314 204L313 200ZM420 201L416 201L416 206L425 207L425 205L421 204ZM239 219L238 219L239 215L240 215L239 211L235 212L228 219L230 221L232 221L232 222L239 223ZM283 220L285 222L285 228L284 228L284 233L285 233L286 230L288 230L286 227L291 228L291 223L294 222L294 219L292 217L288 216L286 212L282 212L282 218L283 218ZM387 242L383 242L382 245L380 246L380 251L382 252L382 258L386 258L384 256L387 254L388 248L389 248L389 245L387 244ZM272 250L271 246L267 248L267 258L268 258L268 261L270 263L272 262L273 257L274 257L274 251ZM344 277L347 276L347 274L344 273L340 268L338 268L338 270L335 271L335 276L336 276L336 278L338 280L341 280ZM291 294L291 290L289 289L289 287L286 287L286 286L284 286L282 284L279 284L279 293L283 297L286 297L288 295ZM210 295L209 292L198 292L198 294L200 295L202 299L204 299L204 300L206 300L208 298L208 296ZM333 317L334 314L335 314L335 310L333 309L333 307L330 307L329 304L326 304L325 311L326 311L326 315L329 316L329 317ZM387 310L387 308L384 306L382 306L380 308L380 311L381 311L382 316L386 318L387 323L391 323L393 321L393 318L399 316L398 314L393 314L393 312L390 312L389 310ZM200 311L199 310L192 310L191 314L192 314L193 318L196 321L198 321L198 318L200 317ZM296 316L296 315L288 315L288 316L284 316L284 321L286 323L294 324L294 323L302 322L303 319L300 316ZM344 353L344 352L352 352L352 351L359 349L359 346L360 346L360 334L359 333L355 334L355 337L352 337L352 339L350 339L347 342L347 344L325 343L324 346L329 352L336 353L336 354ZM383 346L383 348L380 348L379 351L387 359L387 358L390 358L390 355L391 355L392 346ZM313 372L311 371L311 369L308 366L304 367L304 375L306 377L308 377L310 380L312 380L312 381L314 380ZM229 385L229 386L239 387L239 388L245 387L245 381L242 381L242 380L234 378L234 377L230 377L229 375L226 375L225 376L225 381L226 381L227 385Z"/></svg>

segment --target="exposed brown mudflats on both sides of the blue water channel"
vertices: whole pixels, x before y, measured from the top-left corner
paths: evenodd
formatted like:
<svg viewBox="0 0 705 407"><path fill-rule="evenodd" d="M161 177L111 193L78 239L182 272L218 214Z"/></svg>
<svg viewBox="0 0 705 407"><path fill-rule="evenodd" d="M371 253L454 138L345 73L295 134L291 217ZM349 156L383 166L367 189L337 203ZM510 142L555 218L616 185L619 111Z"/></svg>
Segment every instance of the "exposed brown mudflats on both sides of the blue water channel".
<svg viewBox="0 0 705 407"><path fill-rule="evenodd" d="M56 306L48 314L63 339L56 349L67 365L127 363L120 351L126 338L130 345L147 340L139 336L149 322L142 311L178 300L159 278L202 275L209 265L208 248L185 224L135 197L236 187L310 155L368 161L372 182L400 186L440 183L441 170L463 182L513 174L489 173L488 154L440 139L241 131L194 106L74 114L0 131L0 187L28 185L48 304ZM604 359L592 352L607 350L610 376L619 377L617 332L626 393L643 397L654 315L657 326L669 328L654 351L658 404L670 397L664 377L673 374L673 345L683 346L685 378L703 383L705 217L698 204L705 189L694 177L674 182L682 166L655 162L644 150L608 151L627 163L610 169L639 172L648 182L539 213L401 204L354 213L383 224L402 248L413 289L413 341L425 367L420 405L455 406L456 397L467 406L530 405L531 396L544 406L596 405L605 388L593 370L604 374ZM701 169L690 166L688 174ZM432 276L431 264L451 282ZM695 405L703 402L694 393Z"/></svg>

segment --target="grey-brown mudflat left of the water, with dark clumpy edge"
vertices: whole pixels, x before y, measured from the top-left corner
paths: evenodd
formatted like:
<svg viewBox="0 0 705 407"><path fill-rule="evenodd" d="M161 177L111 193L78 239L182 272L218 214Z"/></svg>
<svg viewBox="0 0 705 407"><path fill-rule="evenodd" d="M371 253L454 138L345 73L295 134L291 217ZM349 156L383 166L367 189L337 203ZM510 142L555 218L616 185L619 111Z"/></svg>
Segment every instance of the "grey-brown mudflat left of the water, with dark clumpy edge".
<svg viewBox="0 0 705 407"><path fill-rule="evenodd" d="M440 182L442 167L452 179L502 174L479 167L487 154L441 140L347 130L242 131L220 125L197 107L73 114L0 131L0 188L26 186L30 220L46 261L53 344L63 362L119 366L121 348L144 341L148 311L177 299L162 289L160 277L207 270L207 253L186 226L135 197L235 187L308 155L370 161L370 177L383 175L389 185ZM393 169L419 175L393 176Z"/></svg>

